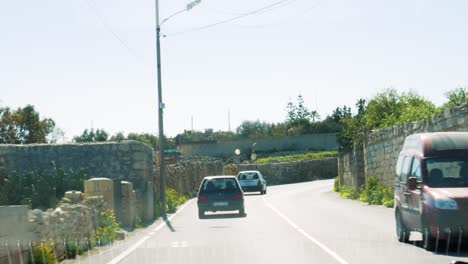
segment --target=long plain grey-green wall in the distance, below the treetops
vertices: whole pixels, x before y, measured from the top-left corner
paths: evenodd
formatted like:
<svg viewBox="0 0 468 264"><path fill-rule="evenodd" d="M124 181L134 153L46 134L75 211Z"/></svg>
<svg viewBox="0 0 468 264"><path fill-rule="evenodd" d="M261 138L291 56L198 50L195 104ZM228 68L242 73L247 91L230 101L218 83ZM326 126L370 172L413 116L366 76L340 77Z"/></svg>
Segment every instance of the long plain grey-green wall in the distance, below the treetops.
<svg viewBox="0 0 468 264"><path fill-rule="evenodd" d="M233 141L218 141L202 144L182 144L180 151L189 156L210 156L227 158L234 155L234 150L250 154L251 147L256 144L257 152L333 150L338 148L335 133L313 134L300 136L265 137L258 139L239 139Z"/></svg>

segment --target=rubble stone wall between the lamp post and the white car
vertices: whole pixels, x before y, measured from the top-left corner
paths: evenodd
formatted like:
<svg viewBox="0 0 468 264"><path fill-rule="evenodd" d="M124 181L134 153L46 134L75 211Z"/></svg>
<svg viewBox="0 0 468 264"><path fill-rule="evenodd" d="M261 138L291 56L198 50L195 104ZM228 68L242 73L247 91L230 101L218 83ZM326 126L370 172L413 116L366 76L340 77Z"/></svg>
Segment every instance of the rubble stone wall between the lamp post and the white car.
<svg viewBox="0 0 468 264"><path fill-rule="evenodd" d="M209 157L183 157L166 163L167 187L181 193L193 193L205 176L222 175L223 161ZM159 190L159 163L155 159L154 188Z"/></svg>

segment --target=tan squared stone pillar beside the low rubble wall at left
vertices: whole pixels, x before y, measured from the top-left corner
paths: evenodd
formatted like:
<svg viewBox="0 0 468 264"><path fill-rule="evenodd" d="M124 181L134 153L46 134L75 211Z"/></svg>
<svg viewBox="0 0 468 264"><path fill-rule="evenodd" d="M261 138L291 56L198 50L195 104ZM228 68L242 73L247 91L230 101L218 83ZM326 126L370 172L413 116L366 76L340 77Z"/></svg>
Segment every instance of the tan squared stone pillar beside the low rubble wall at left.
<svg viewBox="0 0 468 264"><path fill-rule="evenodd" d="M108 178L92 178L84 182L85 198L102 196L106 209L114 210L114 182Z"/></svg>

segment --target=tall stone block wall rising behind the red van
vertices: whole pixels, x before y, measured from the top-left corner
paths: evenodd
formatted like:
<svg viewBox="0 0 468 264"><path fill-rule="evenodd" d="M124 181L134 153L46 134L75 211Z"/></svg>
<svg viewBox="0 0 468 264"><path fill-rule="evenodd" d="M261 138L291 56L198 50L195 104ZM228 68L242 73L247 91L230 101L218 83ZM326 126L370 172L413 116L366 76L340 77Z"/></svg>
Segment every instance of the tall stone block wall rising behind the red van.
<svg viewBox="0 0 468 264"><path fill-rule="evenodd" d="M355 187L353 183L357 182L358 178L375 176L382 184L391 187L396 161L405 138L415 133L440 131L468 131L468 104L446 109L426 120L396 125L367 134L363 144L364 169L359 168L359 164L356 168L355 163L348 162L351 155L348 153L338 161L339 164L343 164L343 169L340 169L340 179L344 178L346 185ZM359 171L359 173L349 176L353 179L347 181L347 171Z"/></svg>

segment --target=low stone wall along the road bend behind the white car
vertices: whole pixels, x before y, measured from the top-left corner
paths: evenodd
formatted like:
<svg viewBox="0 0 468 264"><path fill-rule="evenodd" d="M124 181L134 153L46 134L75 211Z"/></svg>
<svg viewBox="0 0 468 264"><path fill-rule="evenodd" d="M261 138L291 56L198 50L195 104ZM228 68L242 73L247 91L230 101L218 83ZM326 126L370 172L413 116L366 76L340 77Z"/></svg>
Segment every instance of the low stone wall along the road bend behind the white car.
<svg viewBox="0 0 468 264"><path fill-rule="evenodd" d="M237 175L242 170L260 171L268 185L331 179L338 175L336 158L266 164L229 164L224 167L224 174Z"/></svg>

